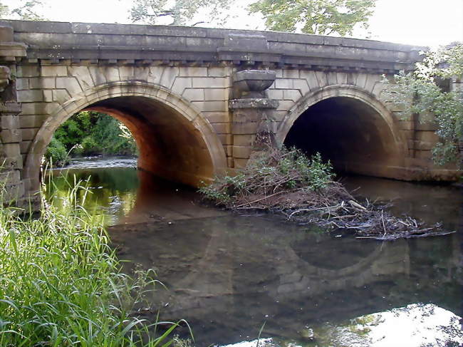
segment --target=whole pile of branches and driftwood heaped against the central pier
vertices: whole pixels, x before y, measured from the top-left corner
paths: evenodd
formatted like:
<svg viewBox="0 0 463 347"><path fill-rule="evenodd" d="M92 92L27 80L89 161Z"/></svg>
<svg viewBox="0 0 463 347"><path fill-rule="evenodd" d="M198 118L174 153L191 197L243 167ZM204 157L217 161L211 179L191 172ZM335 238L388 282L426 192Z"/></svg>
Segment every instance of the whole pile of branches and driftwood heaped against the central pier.
<svg viewBox="0 0 463 347"><path fill-rule="evenodd" d="M398 218L386 206L358 202L333 181L330 163L300 150L269 148L234 177L219 177L202 187L207 200L236 211L278 212L298 223L352 229L360 238L398 239L446 234L439 224L425 227L411 217Z"/></svg>

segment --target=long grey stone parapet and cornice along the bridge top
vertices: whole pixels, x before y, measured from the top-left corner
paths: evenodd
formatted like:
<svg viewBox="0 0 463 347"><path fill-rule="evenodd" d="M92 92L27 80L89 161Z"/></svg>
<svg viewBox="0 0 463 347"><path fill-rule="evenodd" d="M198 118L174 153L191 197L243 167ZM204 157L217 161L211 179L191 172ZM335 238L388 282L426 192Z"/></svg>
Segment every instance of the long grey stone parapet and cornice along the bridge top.
<svg viewBox="0 0 463 347"><path fill-rule="evenodd" d="M418 46L317 35L132 24L0 21L43 64L245 64L328 71L411 70Z"/></svg>

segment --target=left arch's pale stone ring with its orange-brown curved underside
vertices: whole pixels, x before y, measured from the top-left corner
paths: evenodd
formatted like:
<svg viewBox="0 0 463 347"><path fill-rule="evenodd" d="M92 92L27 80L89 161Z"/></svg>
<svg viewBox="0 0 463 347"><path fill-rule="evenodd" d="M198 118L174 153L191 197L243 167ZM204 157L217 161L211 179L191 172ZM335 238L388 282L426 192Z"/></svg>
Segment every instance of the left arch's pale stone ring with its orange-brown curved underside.
<svg viewBox="0 0 463 347"><path fill-rule="evenodd" d="M214 129L180 95L139 81L106 83L59 105L38 130L24 167L30 192L39 188L41 158L53 133L81 110L96 110L122 121L140 151L137 166L147 172L197 186L220 175L227 167L222 143Z"/></svg>

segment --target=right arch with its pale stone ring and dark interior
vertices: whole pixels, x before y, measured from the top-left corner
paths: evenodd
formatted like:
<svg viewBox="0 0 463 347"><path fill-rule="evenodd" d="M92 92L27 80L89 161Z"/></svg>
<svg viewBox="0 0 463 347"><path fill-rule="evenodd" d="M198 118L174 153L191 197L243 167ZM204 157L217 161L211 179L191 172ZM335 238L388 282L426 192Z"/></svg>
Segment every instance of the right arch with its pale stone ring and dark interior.
<svg viewBox="0 0 463 347"><path fill-rule="evenodd" d="M403 178L407 142L397 120L374 95L350 85L328 86L288 111L278 143L321 152L336 170Z"/></svg>

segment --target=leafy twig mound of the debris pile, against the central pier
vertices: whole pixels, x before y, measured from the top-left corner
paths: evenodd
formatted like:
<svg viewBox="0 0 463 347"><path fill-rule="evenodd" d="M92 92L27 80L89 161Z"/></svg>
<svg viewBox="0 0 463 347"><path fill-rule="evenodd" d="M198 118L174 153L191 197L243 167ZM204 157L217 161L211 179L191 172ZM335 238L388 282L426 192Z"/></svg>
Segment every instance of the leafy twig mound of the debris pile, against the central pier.
<svg viewBox="0 0 463 347"><path fill-rule="evenodd" d="M303 189L316 192L333 180L333 167L323 162L320 153L308 158L301 150L268 150L249 160L234 176L217 177L199 189L217 204L229 205L245 196L272 195L278 191Z"/></svg>

